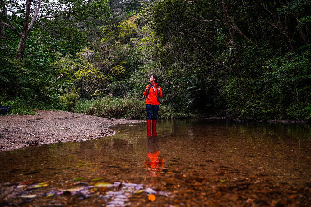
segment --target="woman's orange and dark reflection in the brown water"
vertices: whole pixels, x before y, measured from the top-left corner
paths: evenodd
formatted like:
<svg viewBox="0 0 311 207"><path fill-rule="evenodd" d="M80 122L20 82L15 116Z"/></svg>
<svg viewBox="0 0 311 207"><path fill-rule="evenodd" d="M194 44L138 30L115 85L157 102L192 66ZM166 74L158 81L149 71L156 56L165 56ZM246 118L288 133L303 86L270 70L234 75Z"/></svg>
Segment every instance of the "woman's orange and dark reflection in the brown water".
<svg viewBox="0 0 311 207"><path fill-rule="evenodd" d="M164 158L159 158L160 146L158 137L148 137L146 167L152 177L157 177L163 168Z"/></svg>

